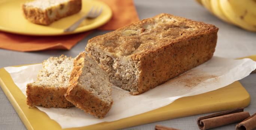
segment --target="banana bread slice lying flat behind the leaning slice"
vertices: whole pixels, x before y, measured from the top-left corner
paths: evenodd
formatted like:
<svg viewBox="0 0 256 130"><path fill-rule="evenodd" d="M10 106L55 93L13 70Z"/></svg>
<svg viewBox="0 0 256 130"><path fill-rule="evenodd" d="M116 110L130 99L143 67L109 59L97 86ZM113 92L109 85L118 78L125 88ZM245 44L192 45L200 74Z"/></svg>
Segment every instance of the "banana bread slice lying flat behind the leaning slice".
<svg viewBox="0 0 256 130"><path fill-rule="evenodd" d="M66 100L70 74L73 68L73 58L61 55L50 57L43 62L43 68L37 75L37 81L27 84L27 104L43 107L68 108L74 105Z"/></svg>

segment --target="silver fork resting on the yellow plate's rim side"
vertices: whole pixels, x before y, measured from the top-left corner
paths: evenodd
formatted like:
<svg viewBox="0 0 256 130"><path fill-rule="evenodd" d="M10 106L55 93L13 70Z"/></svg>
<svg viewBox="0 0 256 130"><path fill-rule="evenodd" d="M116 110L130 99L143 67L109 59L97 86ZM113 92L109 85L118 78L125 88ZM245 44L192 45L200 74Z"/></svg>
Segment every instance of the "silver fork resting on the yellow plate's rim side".
<svg viewBox="0 0 256 130"><path fill-rule="evenodd" d="M75 30L80 23L83 22L84 19L88 18L88 19L94 19L96 17L98 17L101 12L102 12L102 6L100 7L100 10L98 11L98 7L96 7L96 9L94 10L94 6L92 6L91 10L89 11L88 14L86 14L85 16L83 16L81 19L77 20L77 22L73 23L73 25L69 26L67 29L64 30L64 32L72 32L73 30Z"/></svg>

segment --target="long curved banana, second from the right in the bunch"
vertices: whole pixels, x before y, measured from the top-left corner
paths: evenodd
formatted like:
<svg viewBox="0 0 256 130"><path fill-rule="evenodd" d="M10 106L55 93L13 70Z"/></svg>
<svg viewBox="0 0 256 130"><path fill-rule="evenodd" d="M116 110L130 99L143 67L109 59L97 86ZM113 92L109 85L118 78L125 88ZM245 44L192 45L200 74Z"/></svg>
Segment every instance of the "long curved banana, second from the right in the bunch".
<svg viewBox="0 0 256 130"><path fill-rule="evenodd" d="M235 25L247 29L250 31L255 31L256 32L256 26L253 26L251 24L248 24L245 22L243 19L240 19L240 16L237 15L234 12L234 9L232 6L229 4L228 0L218 0L220 9L222 10L222 13L226 16L227 19L229 19L232 23Z"/></svg>

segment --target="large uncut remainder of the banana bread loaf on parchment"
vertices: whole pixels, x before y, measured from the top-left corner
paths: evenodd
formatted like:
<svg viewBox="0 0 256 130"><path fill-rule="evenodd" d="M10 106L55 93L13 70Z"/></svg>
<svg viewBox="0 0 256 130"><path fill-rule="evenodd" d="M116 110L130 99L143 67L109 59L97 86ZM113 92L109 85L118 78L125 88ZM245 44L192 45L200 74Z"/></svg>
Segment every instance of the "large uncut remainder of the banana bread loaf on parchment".
<svg viewBox="0 0 256 130"><path fill-rule="evenodd" d="M122 27L88 41L110 81L137 95L208 61L218 28L170 14Z"/></svg>

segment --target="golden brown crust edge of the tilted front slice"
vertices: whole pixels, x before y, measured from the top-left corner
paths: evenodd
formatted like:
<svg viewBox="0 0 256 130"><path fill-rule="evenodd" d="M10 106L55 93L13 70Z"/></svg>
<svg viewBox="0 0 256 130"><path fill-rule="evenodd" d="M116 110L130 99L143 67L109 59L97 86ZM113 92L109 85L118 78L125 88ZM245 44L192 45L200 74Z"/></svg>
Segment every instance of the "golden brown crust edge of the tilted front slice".
<svg viewBox="0 0 256 130"><path fill-rule="evenodd" d="M104 103L104 101L95 97L90 91L87 91L77 85L78 79L82 75L85 55L87 54L82 52L74 60L74 68L71 72L70 82L65 98L86 113L97 118L103 118L110 110L113 101L110 104Z"/></svg>

